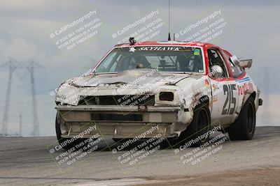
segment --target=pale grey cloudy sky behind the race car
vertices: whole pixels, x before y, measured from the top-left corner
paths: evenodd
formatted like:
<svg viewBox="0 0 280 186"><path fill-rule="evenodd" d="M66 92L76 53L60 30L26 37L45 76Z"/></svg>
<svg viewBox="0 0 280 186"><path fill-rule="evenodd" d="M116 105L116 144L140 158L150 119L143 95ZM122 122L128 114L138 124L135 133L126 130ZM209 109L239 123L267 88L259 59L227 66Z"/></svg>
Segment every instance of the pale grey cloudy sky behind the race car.
<svg viewBox="0 0 280 186"><path fill-rule="evenodd" d="M93 15L83 22L59 33L63 26L91 12ZM137 22L151 13L155 15L146 18L145 22ZM218 15L209 18L213 13ZM171 0L168 22L167 0L0 1L0 65L6 63L10 57L16 61L34 59L44 67L36 68L34 73L38 122L40 134L51 136L55 135L56 111L54 96L50 93L66 79L92 68L113 45L137 31L145 33L141 29L156 21L162 24L147 35L151 40L167 40L169 24L171 33L178 36L176 40L185 40L194 36L197 31L209 28L214 22L223 22L223 27L218 29L220 34L217 31L216 36L209 42L242 59L253 59L253 66L248 73L259 86L264 100L264 105L258 110L257 125L280 125L280 75L279 61L276 58L280 40L279 13L279 1ZM188 33L182 32L206 17L208 22L201 23ZM100 23L94 29L97 32L92 32L93 36L71 49L57 45L59 40L59 43L65 43L65 40L70 42L68 39L73 31L85 28L85 24L92 21L96 22L94 25ZM131 24L135 25L121 33L123 28ZM52 33L55 34L54 38L51 37ZM65 39L66 36L68 38ZM0 68L1 121L5 109L8 75L7 68ZM25 68L18 68L13 72L11 91L8 133L15 134L19 131L19 116L22 114L22 134L28 136L32 130L33 115L30 73Z"/></svg>

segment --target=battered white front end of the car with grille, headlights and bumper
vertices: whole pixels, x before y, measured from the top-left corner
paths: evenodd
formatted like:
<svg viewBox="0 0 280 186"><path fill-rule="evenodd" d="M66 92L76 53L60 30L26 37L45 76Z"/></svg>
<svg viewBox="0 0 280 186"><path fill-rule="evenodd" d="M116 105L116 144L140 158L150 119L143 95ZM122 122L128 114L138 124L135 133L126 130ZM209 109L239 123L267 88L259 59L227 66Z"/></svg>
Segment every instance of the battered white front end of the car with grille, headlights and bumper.
<svg viewBox="0 0 280 186"><path fill-rule="evenodd" d="M145 134L146 138L156 134L178 137L191 121L190 111L184 109L177 86L157 86L156 91L133 86L120 92L116 91L118 88L116 84L69 86L68 91L75 92L73 98L64 95L67 90L59 91L56 109L65 129L62 137L75 137L90 126L96 126L97 130L83 137L97 133L112 138L134 138L140 134ZM151 128L152 132L147 132Z"/></svg>

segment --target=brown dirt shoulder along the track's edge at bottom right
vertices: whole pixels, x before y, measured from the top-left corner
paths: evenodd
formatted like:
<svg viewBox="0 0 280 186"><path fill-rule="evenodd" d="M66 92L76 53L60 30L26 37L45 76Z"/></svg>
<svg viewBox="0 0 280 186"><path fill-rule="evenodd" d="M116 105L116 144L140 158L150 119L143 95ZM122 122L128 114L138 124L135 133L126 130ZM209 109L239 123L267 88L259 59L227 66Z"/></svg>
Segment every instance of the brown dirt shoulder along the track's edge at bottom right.
<svg viewBox="0 0 280 186"><path fill-rule="evenodd" d="M147 183L144 185L280 185L279 176L280 167L269 166L259 169L204 173L197 176L178 178L174 178L174 176L149 178L149 180L158 180L158 183Z"/></svg>

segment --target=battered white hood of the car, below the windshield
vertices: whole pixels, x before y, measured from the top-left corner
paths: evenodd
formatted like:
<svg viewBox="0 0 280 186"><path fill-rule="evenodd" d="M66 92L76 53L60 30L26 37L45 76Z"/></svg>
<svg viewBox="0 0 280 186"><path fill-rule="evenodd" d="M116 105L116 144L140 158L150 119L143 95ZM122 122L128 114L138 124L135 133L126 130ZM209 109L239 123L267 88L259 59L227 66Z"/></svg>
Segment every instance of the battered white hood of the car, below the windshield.
<svg viewBox="0 0 280 186"><path fill-rule="evenodd" d="M159 85L174 85L182 79L192 77L192 74L164 74L155 69L125 70L116 74L88 75L69 79L71 86L92 87L108 86L110 84L144 85L156 83Z"/></svg>

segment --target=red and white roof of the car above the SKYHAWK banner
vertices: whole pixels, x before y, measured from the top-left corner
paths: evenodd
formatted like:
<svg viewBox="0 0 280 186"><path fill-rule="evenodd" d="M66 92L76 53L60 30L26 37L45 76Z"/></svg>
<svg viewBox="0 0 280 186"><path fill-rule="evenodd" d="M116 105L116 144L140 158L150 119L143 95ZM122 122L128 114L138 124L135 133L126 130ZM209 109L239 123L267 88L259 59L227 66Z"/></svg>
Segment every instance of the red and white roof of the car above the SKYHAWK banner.
<svg viewBox="0 0 280 186"><path fill-rule="evenodd" d="M135 42L134 45L130 45L130 43L123 43L119 45L115 45L115 47L130 47L130 46L155 46L155 45L162 45L162 46L193 46L193 47L206 47L207 45L211 45L211 47L218 47L208 42L198 42L198 41L176 41L176 40L169 40L169 41L144 41L144 42Z"/></svg>

